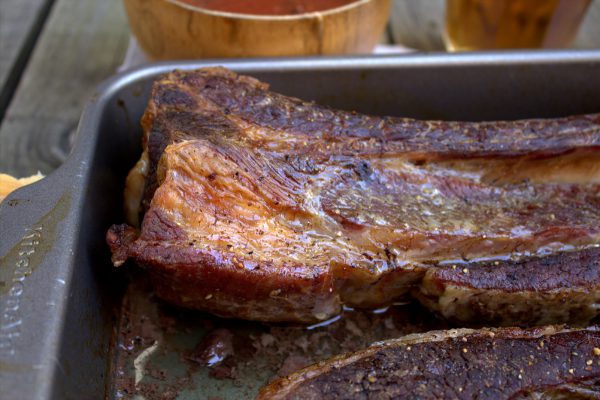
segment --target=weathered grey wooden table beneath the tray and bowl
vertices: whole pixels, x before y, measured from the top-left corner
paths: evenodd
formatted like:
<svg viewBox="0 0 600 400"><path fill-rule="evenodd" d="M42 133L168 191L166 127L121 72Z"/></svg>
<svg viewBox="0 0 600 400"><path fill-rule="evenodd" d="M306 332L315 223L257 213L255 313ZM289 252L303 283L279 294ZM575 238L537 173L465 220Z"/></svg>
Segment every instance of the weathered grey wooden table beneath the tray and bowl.
<svg viewBox="0 0 600 400"><path fill-rule="evenodd" d="M49 173L66 158L83 105L127 51L122 0L0 0L0 172ZM394 0L390 37L439 50L444 0ZM600 37L595 0L577 39Z"/></svg>

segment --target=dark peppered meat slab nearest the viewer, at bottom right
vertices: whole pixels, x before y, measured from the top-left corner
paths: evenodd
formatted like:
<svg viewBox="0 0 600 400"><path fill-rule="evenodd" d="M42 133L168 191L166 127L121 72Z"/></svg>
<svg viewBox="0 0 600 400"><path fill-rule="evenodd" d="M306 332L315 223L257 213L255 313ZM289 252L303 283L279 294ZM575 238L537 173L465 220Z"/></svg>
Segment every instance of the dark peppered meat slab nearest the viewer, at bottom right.
<svg viewBox="0 0 600 400"><path fill-rule="evenodd" d="M596 328L440 331L309 366L266 386L258 399L551 398L599 378Z"/></svg>

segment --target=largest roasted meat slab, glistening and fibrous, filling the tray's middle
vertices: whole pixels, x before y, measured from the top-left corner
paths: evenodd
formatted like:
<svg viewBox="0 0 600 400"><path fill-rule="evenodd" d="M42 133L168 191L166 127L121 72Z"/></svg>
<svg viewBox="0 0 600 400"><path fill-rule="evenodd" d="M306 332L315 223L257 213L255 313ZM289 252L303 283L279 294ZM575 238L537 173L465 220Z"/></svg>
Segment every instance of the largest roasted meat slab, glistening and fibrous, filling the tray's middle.
<svg viewBox="0 0 600 400"><path fill-rule="evenodd" d="M410 298L464 324L598 314L598 114L367 116L209 68L160 78L142 125L107 241L168 302L301 323Z"/></svg>

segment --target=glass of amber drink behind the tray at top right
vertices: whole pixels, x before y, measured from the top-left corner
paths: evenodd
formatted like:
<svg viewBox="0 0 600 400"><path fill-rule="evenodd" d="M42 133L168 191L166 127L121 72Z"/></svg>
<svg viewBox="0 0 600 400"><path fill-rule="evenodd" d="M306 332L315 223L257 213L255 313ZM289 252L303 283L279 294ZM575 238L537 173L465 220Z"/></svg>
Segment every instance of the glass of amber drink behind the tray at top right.
<svg viewBox="0 0 600 400"><path fill-rule="evenodd" d="M447 0L446 47L568 47L591 0Z"/></svg>

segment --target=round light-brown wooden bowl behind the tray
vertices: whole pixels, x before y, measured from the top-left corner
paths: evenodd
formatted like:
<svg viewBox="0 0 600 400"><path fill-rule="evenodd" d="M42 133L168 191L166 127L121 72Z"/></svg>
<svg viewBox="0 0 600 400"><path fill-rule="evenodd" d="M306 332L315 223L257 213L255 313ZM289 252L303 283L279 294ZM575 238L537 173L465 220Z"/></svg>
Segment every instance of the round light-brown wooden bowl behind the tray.
<svg viewBox="0 0 600 400"><path fill-rule="evenodd" d="M297 15L213 11L179 0L124 0L131 31L154 59L369 53L390 0L357 0Z"/></svg>

